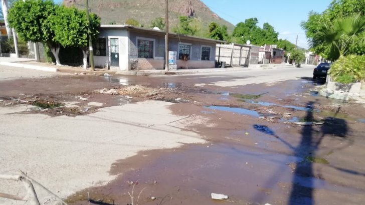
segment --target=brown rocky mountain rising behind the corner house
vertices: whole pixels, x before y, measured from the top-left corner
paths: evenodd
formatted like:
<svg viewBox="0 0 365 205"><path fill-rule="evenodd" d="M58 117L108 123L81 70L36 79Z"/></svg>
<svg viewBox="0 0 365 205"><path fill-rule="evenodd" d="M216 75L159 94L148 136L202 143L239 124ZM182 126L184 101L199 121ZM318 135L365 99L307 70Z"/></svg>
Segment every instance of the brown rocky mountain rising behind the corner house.
<svg viewBox="0 0 365 205"><path fill-rule="evenodd" d="M64 0L64 4L85 9L84 0ZM126 19L132 18L148 28L153 19L165 16L165 0L89 0L89 8L101 17L102 24L124 24ZM234 28L200 0L169 0L170 30L178 23L179 16L194 18L202 29L211 22L226 25L228 31Z"/></svg>

